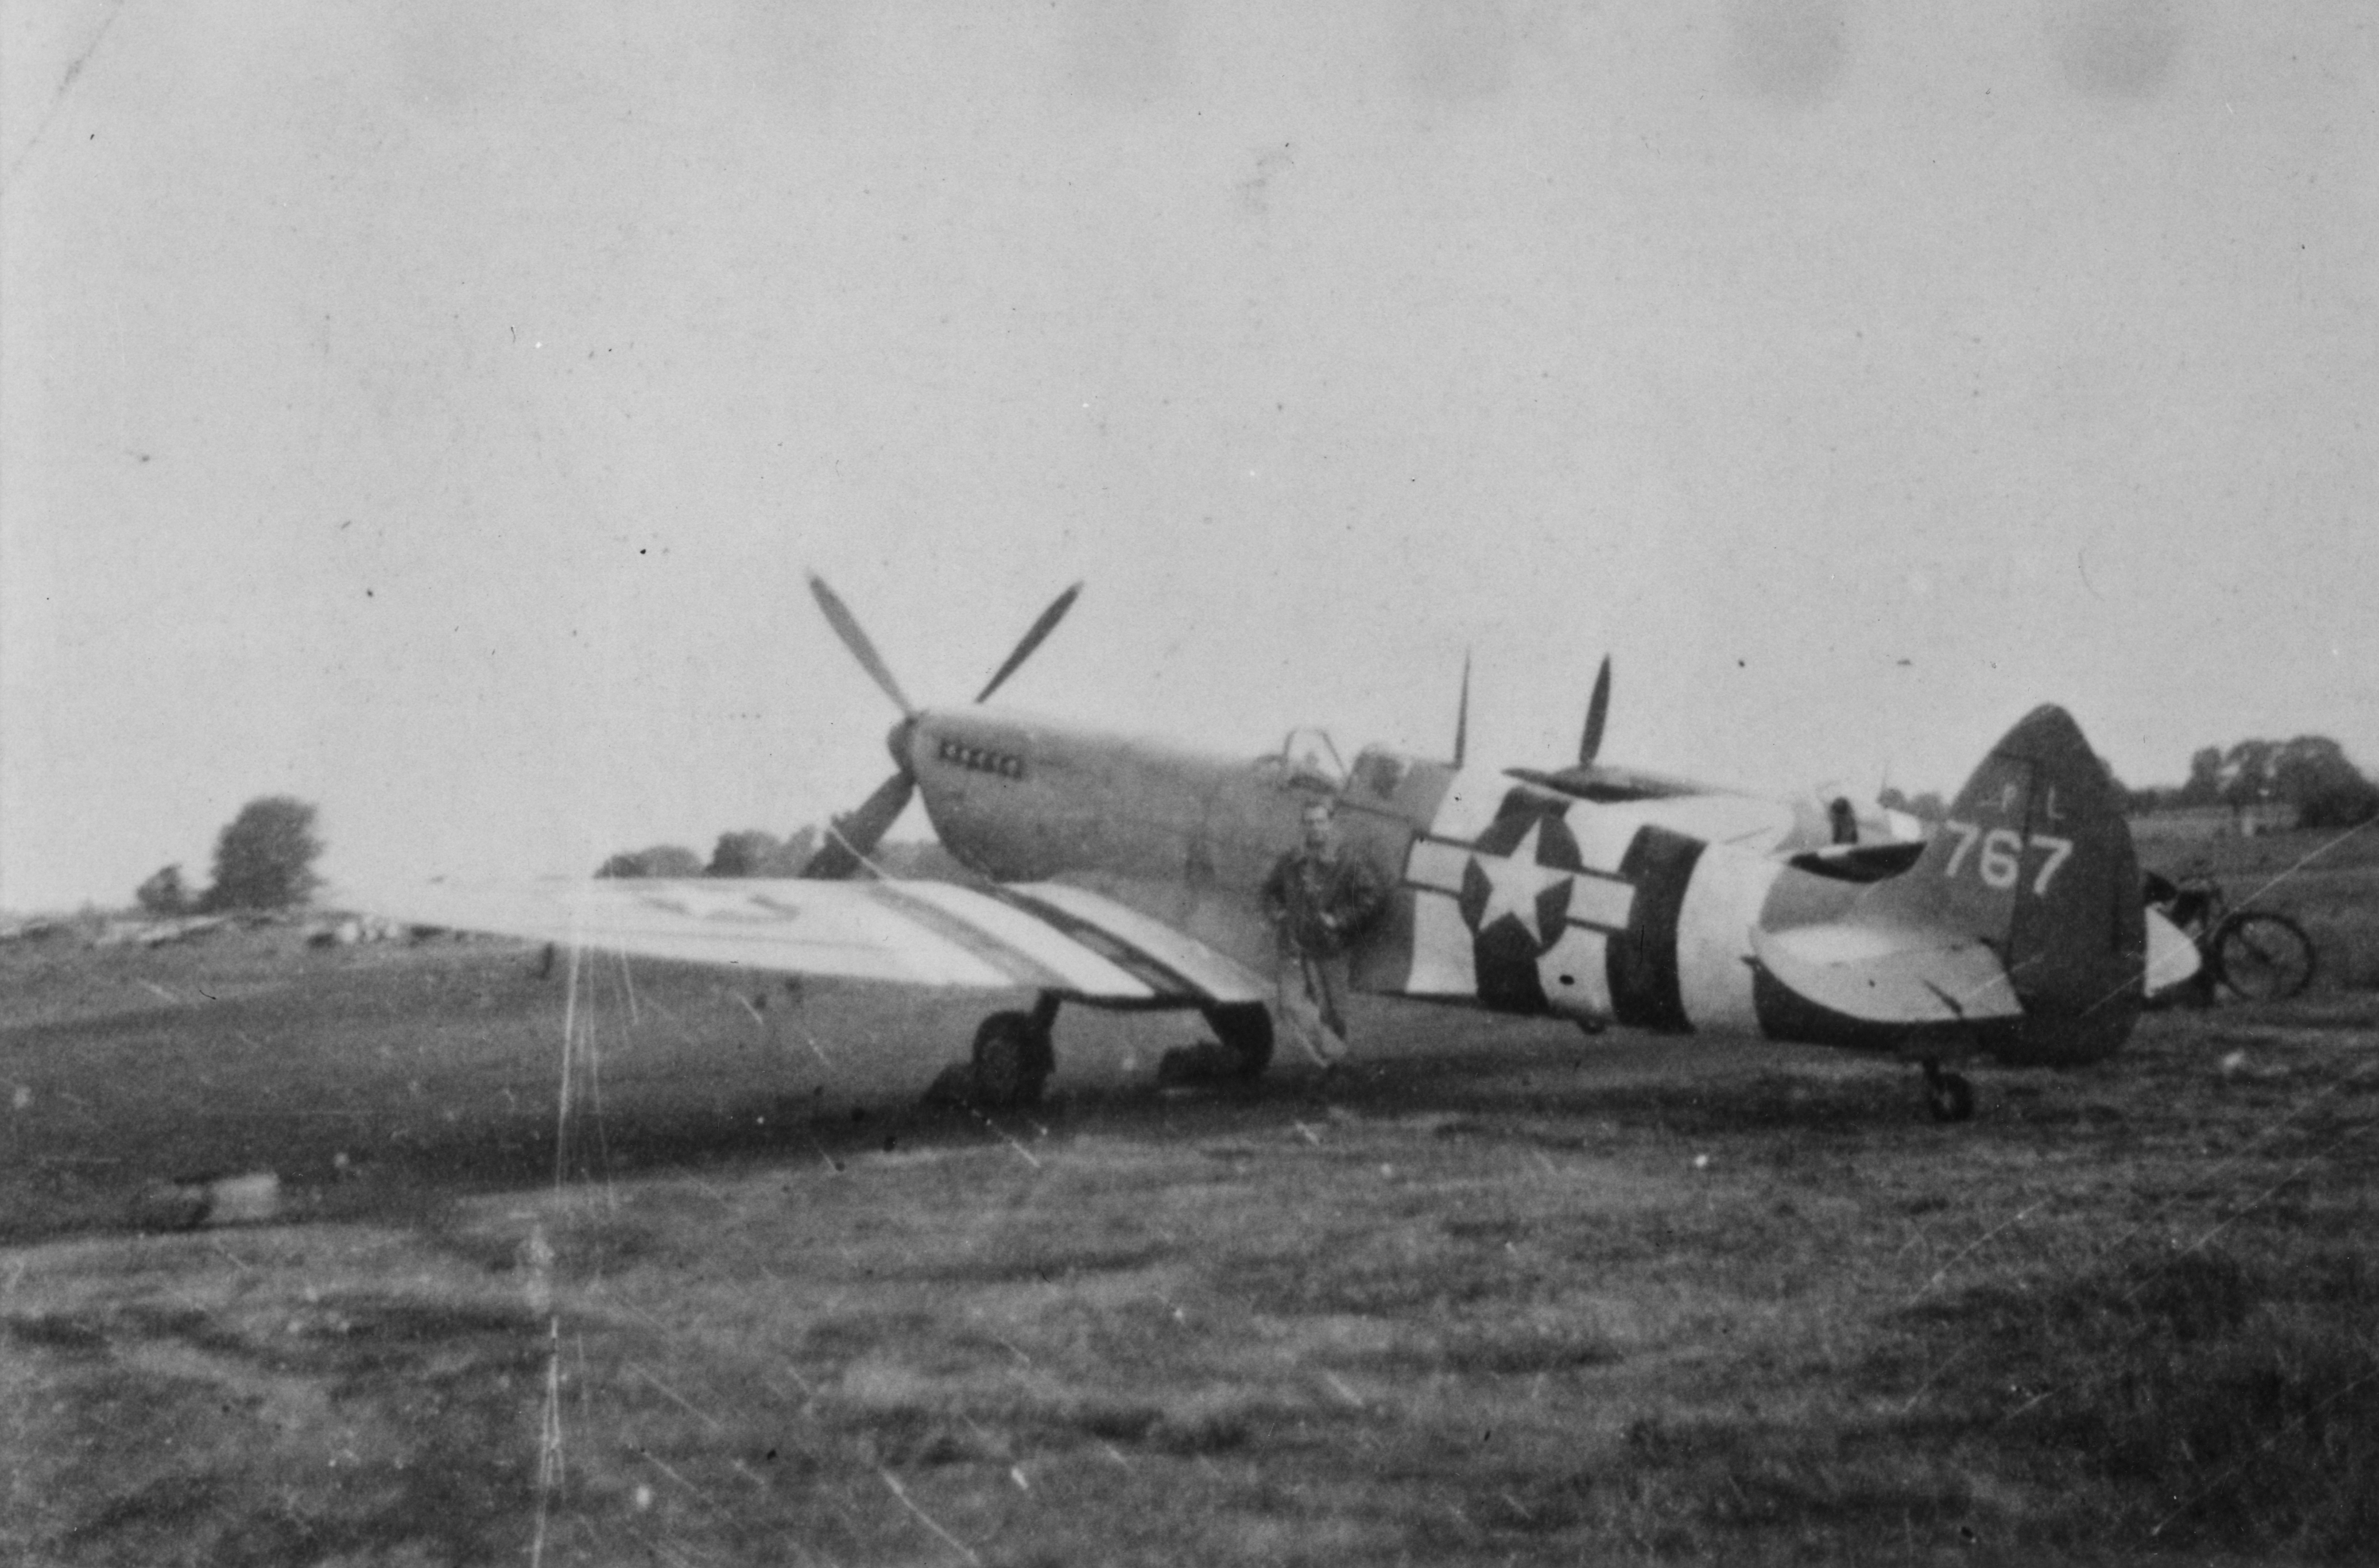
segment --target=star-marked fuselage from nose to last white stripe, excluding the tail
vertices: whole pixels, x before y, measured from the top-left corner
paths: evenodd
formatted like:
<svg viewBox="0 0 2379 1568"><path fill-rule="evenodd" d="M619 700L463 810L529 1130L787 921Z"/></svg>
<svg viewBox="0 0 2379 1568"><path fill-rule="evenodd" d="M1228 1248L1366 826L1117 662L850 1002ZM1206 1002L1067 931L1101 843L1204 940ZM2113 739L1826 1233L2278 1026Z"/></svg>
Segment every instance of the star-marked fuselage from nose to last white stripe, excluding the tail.
<svg viewBox="0 0 2379 1568"><path fill-rule="evenodd" d="M1651 1030L1763 1030L1751 928L1839 916L1858 885L1765 852L1746 797L1565 799L1382 747L1347 778L1002 709L928 711L909 766L942 842L994 880L1068 880L1268 968L1258 890L1308 799L1394 888L1358 990ZM1713 842L1699 819L1751 845Z"/></svg>

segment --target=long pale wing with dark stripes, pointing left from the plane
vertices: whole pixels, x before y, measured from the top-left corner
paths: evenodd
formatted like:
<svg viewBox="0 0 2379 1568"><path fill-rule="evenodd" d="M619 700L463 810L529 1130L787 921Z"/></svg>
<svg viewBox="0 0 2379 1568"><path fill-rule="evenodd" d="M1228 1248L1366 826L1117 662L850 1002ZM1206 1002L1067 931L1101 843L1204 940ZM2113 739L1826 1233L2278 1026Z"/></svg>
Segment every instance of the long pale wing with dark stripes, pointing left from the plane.
<svg viewBox="0 0 2379 1568"><path fill-rule="evenodd" d="M949 990L1042 990L1071 1002L1201 1006L1270 985L1135 909L1061 883L797 878L423 883L340 902L450 930L569 942L680 964L845 976Z"/></svg>

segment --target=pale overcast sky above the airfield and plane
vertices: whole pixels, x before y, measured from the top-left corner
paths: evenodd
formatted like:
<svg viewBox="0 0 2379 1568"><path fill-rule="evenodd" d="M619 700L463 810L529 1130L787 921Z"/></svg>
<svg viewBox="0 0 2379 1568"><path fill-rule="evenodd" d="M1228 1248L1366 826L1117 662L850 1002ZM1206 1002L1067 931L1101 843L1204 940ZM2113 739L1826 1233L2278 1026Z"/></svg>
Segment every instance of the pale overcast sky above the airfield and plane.
<svg viewBox="0 0 2379 1568"><path fill-rule="evenodd" d="M787 830L892 709L2379 766L2360 0L5 5L0 904ZM918 809L899 828L923 835Z"/></svg>

